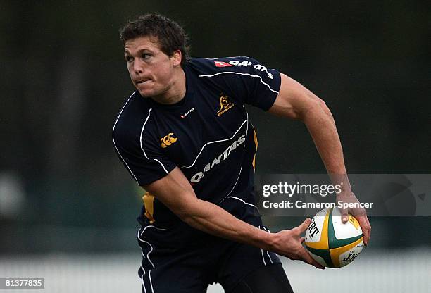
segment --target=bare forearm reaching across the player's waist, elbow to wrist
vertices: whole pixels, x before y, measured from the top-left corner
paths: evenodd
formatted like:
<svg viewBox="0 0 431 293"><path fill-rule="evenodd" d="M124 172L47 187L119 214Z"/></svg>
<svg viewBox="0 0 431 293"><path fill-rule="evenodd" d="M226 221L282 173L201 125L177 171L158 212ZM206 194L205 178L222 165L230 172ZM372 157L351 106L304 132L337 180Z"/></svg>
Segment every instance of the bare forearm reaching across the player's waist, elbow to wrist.
<svg viewBox="0 0 431 293"><path fill-rule="evenodd" d="M275 250L277 236L245 223L220 206L197 198L190 199L178 216L188 225L208 234Z"/></svg>

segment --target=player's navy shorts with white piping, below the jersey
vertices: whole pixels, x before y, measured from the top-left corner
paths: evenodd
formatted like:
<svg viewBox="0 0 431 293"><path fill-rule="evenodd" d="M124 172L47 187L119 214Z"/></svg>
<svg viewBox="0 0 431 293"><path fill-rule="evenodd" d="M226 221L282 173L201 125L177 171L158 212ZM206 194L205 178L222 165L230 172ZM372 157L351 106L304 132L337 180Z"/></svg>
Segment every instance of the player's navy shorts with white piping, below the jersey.
<svg viewBox="0 0 431 293"><path fill-rule="evenodd" d="M170 245L169 233L154 225L144 225L137 232L142 292L203 293L213 282L230 292L258 268L280 263L273 252L205 233L189 243ZM154 235L163 242L154 241Z"/></svg>

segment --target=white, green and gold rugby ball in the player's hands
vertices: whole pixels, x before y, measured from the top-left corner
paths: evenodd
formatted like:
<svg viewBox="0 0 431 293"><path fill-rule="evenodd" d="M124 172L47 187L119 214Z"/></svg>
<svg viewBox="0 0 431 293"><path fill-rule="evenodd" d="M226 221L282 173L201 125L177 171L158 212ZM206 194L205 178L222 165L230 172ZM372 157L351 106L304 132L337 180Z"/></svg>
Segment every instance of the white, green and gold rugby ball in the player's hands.
<svg viewBox="0 0 431 293"><path fill-rule="evenodd" d="M338 208L325 208L311 219L305 246L322 266L341 268L361 254L362 229L354 216L349 214L349 220L344 224Z"/></svg>

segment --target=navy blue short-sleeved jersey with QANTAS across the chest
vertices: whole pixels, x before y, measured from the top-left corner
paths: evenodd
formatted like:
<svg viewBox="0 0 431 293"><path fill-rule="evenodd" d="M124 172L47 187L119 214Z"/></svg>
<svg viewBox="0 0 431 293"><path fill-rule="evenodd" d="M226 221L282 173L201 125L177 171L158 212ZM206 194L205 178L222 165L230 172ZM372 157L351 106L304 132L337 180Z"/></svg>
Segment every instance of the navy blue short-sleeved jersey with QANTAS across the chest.
<svg viewBox="0 0 431 293"><path fill-rule="evenodd" d="M257 139L244 104L268 110L280 73L248 57L189 58L183 69L186 94L177 104L158 104L139 92L126 101L113 127L118 156L139 185L179 167L196 197L251 223ZM144 202L142 219L178 221L151 195Z"/></svg>

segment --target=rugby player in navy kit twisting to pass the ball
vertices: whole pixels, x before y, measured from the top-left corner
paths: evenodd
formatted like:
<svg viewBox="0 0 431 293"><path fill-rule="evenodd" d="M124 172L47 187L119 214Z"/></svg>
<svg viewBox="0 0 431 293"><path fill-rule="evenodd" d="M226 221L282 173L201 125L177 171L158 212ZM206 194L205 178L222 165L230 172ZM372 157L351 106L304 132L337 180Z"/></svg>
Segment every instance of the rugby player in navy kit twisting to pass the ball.
<svg viewBox="0 0 431 293"><path fill-rule="evenodd" d="M225 292L292 292L277 254L323 268L301 245L309 218L277 233L262 223L256 132L244 104L304 121L327 172L346 174L325 103L253 58L187 58L184 30L162 15L128 21L120 38L137 90L115 120L113 143L146 191L142 292L206 292L212 282ZM354 198L346 177L342 197ZM368 244L368 219L358 216Z"/></svg>

